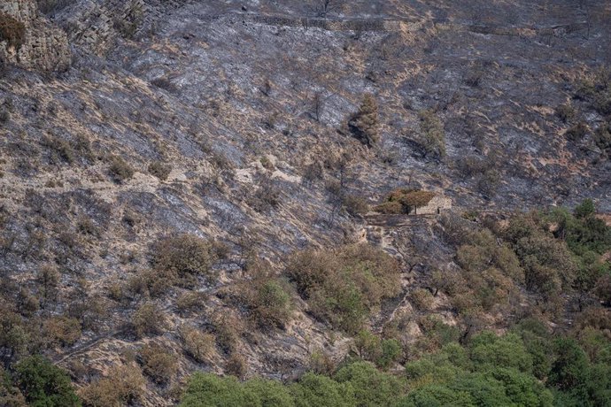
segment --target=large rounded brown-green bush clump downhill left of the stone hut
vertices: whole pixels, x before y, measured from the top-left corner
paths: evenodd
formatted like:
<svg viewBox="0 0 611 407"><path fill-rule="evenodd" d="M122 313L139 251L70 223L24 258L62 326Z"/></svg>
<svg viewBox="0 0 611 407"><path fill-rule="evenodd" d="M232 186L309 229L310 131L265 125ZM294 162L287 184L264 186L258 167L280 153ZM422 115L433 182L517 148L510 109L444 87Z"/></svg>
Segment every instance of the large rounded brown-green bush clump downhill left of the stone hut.
<svg viewBox="0 0 611 407"><path fill-rule="evenodd" d="M299 252L287 273L315 316L352 334L401 287L398 262L367 244Z"/></svg>

